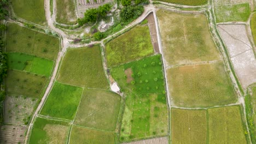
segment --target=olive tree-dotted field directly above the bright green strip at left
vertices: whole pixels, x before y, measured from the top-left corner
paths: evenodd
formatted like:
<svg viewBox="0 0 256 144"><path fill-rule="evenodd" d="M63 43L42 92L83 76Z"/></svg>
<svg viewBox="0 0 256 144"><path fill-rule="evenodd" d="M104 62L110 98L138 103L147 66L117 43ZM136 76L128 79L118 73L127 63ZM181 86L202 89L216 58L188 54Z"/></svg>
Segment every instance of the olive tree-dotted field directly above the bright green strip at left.
<svg viewBox="0 0 256 144"><path fill-rule="evenodd" d="M6 51L27 53L37 57L55 60L60 50L59 39L40 32L8 23Z"/></svg>

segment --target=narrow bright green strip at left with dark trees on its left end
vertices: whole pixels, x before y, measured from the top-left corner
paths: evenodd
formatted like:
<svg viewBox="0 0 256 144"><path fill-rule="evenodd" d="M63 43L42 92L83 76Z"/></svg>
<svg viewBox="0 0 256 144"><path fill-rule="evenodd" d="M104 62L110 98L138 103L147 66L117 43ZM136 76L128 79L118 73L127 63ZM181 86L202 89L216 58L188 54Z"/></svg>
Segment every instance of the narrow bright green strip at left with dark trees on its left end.
<svg viewBox="0 0 256 144"><path fill-rule="evenodd" d="M54 62L40 57L27 55L25 53L8 53L9 69L24 70L34 74L50 76Z"/></svg>

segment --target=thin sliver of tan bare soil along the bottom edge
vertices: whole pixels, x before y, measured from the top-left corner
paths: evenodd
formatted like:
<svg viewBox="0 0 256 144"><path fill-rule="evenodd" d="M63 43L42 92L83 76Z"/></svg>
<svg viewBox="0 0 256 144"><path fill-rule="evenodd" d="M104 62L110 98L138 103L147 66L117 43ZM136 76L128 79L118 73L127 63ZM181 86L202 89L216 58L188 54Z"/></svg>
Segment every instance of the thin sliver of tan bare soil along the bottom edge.
<svg viewBox="0 0 256 144"><path fill-rule="evenodd" d="M148 139L148 140L133 141L126 144L168 144L168 138L158 137L158 138Z"/></svg>

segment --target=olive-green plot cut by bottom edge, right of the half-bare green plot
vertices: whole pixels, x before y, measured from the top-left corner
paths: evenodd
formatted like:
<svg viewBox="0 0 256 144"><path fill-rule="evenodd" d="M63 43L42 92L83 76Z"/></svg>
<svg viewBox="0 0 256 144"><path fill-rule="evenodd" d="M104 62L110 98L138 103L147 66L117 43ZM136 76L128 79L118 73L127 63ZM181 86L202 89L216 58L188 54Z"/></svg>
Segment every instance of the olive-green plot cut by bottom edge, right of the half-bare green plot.
<svg viewBox="0 0 256 144"><path fill-rule="evenodd" d="M73 125L69 143L113 144L115 143L115 135L112 132L87 129Z"/></svg>

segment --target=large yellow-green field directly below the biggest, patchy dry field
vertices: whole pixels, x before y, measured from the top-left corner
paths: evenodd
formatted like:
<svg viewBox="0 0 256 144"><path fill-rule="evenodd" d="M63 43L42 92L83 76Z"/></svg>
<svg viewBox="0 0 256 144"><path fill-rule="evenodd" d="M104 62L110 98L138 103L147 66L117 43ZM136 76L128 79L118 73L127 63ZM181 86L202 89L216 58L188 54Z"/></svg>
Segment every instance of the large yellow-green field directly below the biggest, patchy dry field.
<svg viewBox="0 0 256 144"><path fill-rule="evenodd" d="M207 107L236 102L236 94L223 62L167 69L173 105Z"/></svg>

